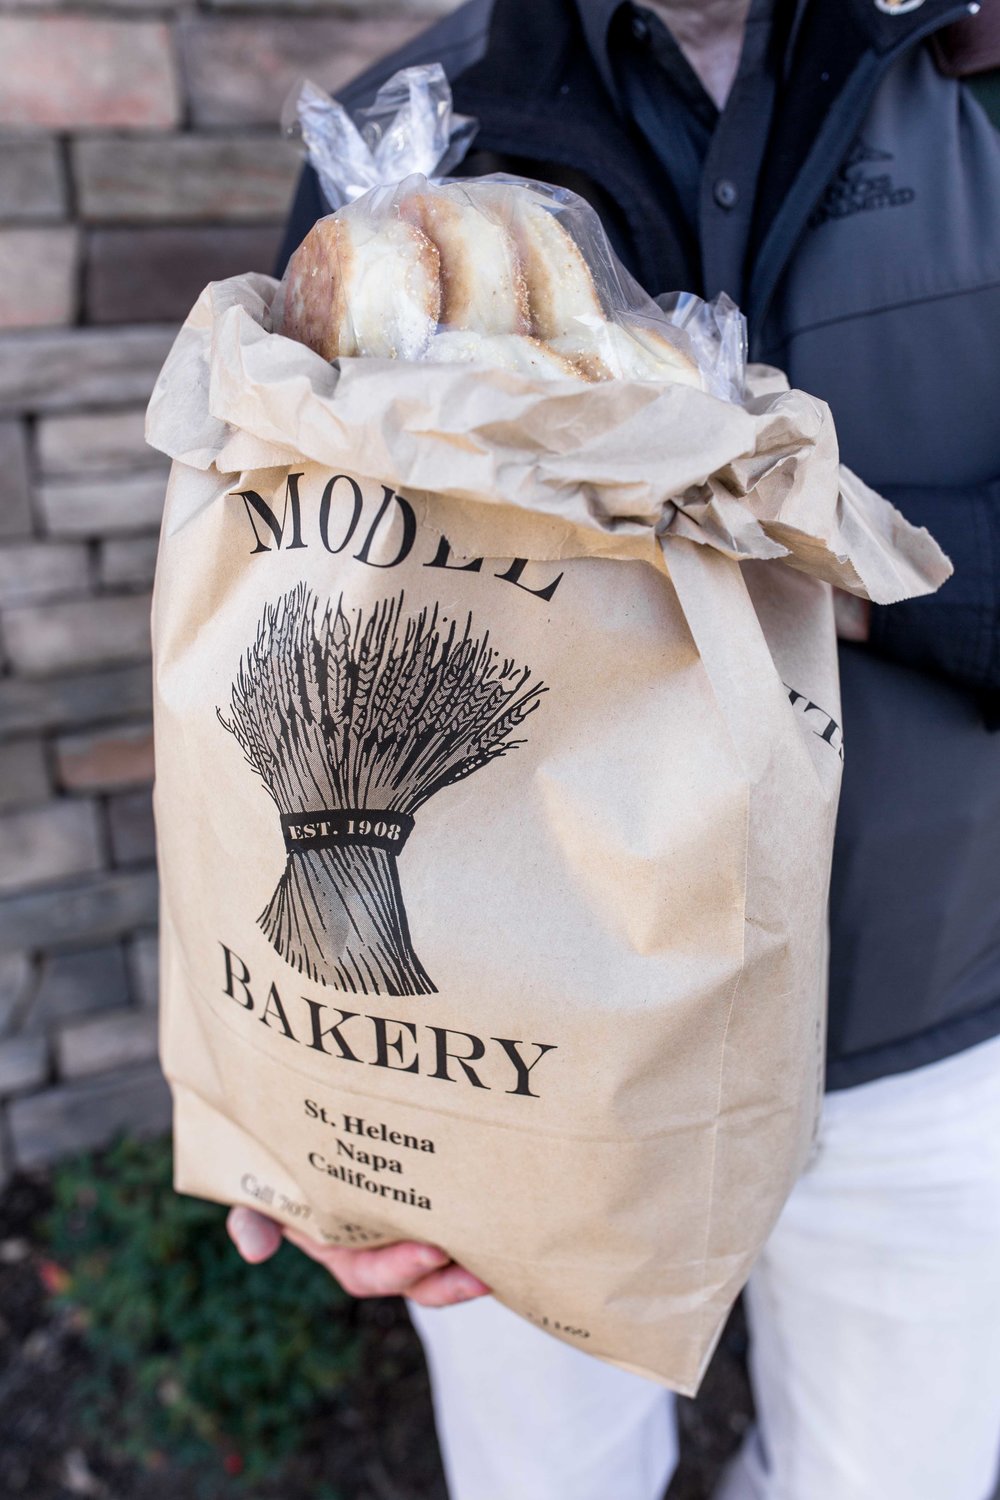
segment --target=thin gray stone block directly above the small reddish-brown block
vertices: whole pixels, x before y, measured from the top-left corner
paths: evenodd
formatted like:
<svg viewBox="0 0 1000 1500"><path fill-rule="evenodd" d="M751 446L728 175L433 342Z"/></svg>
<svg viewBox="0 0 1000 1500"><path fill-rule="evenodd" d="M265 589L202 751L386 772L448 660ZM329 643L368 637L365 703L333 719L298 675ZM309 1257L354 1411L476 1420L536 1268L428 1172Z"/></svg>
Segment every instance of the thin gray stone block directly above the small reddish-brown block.
<svg viewBox="0 0 1000 1500"><path fill-rule="evenodd" d="M40 681L0 678L0 735L148 714L151 699L148 664Z"/></svg>

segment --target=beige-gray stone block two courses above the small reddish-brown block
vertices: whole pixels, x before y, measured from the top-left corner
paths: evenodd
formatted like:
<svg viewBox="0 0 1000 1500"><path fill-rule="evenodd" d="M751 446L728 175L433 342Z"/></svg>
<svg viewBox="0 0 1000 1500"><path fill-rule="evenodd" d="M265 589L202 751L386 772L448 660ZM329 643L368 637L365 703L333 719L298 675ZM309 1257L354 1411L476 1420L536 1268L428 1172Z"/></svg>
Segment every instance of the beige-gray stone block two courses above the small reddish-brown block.
<svg viewBox="0 0 1000 1500"><path fill-rule="evenodd" d="M3 618L15 672L43 676L67 668L111 666L150 654L147 594L25 604Z"/></svg>

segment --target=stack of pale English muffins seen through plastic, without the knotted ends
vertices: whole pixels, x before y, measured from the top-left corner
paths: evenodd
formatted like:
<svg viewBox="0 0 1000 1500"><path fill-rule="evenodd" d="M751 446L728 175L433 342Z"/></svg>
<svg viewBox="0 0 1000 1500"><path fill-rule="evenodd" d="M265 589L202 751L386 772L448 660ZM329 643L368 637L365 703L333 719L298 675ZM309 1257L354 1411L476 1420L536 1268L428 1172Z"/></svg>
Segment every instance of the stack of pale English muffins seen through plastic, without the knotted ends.
<svg viewBox="0 0 1000 1500"><path fill-rule="evenodd" d="M376 189L306 236L285 276L276 332L325 360L487 363L550 380L703 388L666 321L630 316L622 297L622 306L607 304L567 228L573 218L556 195L496 178L411 177ZM597 225L595 237L603 242Z"/></svg>

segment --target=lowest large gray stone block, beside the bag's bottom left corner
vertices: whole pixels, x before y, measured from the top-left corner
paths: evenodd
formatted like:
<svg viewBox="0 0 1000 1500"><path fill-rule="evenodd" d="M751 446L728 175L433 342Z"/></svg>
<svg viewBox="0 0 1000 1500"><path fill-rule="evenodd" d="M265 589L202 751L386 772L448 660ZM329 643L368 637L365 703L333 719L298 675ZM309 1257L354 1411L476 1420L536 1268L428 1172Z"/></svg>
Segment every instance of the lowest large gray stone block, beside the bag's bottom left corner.
<svg viewBox="0 0 1000 1500"><path fill-rule="evenodd" d="M160 1136L169 1128L169 1089L154 1065L87 1078L15 1100L7 1112L18 1167L42 1167L106 1146L121 1131Z"/></svg>

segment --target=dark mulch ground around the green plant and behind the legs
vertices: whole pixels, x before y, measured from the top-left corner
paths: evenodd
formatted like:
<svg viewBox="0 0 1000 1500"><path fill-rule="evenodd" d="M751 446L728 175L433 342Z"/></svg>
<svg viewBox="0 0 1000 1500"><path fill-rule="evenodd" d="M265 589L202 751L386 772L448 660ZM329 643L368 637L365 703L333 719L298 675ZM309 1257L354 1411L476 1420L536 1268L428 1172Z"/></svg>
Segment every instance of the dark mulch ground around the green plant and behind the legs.
<svg viewBox="0 0 1000 1500"><path fill-rule="evenodd" d="M220 1474L114 1462L81 1422L87 1352L39 1276L43 1178L0 1197L0 1497L3 1500L445 1500L417 1338L397 1300L358 1304L361 1372L303 1443L280 1491ZM750 1420L744 1334L733 1318L697 1402L681 1402L684 1461L669 1500L708 1500Z"/></svg>

